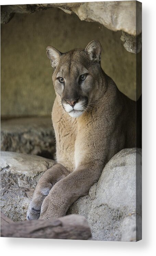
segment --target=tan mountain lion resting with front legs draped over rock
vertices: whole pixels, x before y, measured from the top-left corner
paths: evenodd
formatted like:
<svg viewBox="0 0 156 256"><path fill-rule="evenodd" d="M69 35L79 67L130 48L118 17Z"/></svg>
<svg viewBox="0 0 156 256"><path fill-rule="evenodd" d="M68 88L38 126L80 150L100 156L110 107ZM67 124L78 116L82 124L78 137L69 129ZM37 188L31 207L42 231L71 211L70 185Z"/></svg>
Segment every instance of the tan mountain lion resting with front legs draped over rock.
<svg viewBox="0 0 156 256"><path fill-rule="evenodd" d="M27 219L64 216L75 200L88 194L112 156L136 146L135 101L101 69L101 50L97 40L66 53L47 47L55 69L57 163L40 178Z"/></svg>

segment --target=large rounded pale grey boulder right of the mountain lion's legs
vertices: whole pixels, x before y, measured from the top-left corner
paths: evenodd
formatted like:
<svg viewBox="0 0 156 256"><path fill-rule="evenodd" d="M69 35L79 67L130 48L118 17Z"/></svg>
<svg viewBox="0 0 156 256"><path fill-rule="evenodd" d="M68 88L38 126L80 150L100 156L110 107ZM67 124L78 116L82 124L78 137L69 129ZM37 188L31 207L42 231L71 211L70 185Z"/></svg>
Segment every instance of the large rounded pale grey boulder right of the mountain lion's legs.
<svg viewBox="0 0 156 256"><path fill-rule="evenodd" d="M93 239L136 241L141 238L141 162L141 149L137 149L137 168L136 149L121 150L107 163L89 195L78 199L69 209L69 214L87 218Z"/></svg>

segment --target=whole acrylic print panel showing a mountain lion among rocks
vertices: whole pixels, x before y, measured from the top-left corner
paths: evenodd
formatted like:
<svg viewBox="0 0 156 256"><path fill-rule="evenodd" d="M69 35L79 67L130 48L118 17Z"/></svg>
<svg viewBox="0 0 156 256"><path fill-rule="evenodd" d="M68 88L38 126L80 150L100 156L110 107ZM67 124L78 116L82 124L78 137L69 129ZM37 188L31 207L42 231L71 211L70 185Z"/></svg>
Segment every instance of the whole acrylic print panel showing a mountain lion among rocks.
<svg viewBox="0 0 156 256"><path fill-rule="evenodd" d="M1 6L1 236L141 239L141 14Z"/></svg>

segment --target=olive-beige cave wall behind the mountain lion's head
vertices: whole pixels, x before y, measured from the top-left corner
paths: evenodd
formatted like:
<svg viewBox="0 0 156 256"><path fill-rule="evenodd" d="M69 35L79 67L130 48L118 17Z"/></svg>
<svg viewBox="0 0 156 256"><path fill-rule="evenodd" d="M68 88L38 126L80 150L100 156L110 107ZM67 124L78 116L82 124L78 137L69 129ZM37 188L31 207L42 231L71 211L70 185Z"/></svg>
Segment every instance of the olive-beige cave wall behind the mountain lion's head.
<svg viewBox="0 0 156 256"><path fill-rule="evenodd" d="M1 25L1 116L50 115L55 93L46 47L64 52L98 39L101 65L119 90L135 99L136 56L126 51L121 31L80 21L57 8L15 14Z"/></svg>

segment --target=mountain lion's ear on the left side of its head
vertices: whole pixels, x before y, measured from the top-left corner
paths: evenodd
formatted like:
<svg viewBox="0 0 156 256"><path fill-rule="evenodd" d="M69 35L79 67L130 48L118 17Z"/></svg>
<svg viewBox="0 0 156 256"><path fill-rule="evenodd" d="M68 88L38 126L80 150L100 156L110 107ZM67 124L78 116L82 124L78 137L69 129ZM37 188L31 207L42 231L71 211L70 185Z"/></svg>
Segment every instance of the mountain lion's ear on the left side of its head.
<svg viewBox="0 0 156 256"><path fill-rule="evenodd" d="M47 56L50 59L51 66L53 68L57 67L61 55L62 55L62 53L60 51L58 51L57 49L55 49L54 47L47 46Z"/></svg>

